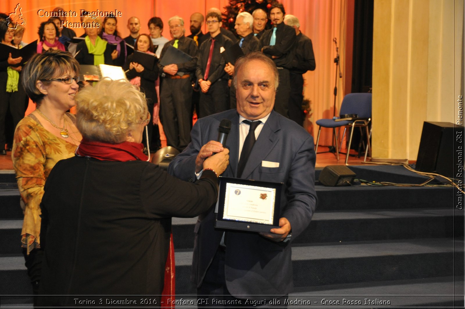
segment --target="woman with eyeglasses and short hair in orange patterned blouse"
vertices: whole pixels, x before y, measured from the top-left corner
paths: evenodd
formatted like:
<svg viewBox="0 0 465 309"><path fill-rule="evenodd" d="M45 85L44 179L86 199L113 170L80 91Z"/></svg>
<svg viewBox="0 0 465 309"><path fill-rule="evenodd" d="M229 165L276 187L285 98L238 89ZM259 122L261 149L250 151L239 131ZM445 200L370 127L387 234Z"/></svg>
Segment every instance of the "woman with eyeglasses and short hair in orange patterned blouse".
<svg viewBox="0 0 465 309"><path fill-rule="evenodd" d="M79 64L67 52L49 49L35 54L23 68L21 82L36 109L16 127L13 168L25 204L21 246L28 275L37 294L40 285L40 201L44 184L56 162L74 156L82 139L73 114L76 105ZM72 178L68 175L66 178ZM63 179L63 190L74 190Z"/></svg>

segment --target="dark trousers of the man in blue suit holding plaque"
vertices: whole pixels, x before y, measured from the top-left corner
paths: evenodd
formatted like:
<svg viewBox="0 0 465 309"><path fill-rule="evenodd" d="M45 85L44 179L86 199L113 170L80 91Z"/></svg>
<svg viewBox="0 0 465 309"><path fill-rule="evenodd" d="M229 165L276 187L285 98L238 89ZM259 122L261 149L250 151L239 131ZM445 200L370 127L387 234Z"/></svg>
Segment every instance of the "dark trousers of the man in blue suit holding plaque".
<svg viewBox="0 0 465 309"><path fill-rule="evenodd" d="M246 298L239 299L232 296L226 287L225 278L225 258L226 249L218 247L213 261L208 267L202 284L197 289L197 306L210 308L225 308L225 307L260 307L260 308L287 308L285 303L288 296L282 297L263 297L260 302L255 304L247 302ZM246 297L246 296L244 296ZM266 299L263 301L263 299ZM271 301L271 303L270 303Z"/></svg>

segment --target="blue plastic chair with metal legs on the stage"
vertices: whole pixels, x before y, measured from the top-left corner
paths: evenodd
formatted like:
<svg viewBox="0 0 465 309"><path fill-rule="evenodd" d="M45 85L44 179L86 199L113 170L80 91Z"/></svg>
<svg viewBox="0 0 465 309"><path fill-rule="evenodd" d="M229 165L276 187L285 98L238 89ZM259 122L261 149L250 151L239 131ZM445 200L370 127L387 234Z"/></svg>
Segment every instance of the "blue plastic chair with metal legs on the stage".
<svg viewBox="0 0 465 309"><path fill-rule="evenodd" d="M332 128L332 134L334 136L334 140L336 141L336 158L339 161L339 149L338 148L338 135L336 133L336 128L341 128L344 127L344 134L345 134L345 129L347 126L351 126L352 130L350 133L349 137L349 147L347 148L347 155L345 156L345 164L347 164L347 160L349 159L349 150L351 147L352 143L352 136L353 136L353 129L355 127L360 128L360 133L362 132L362 127L365 127L366 130L366 136L367 136L367 141L366 141L366 147L365 147L365 160L366 161L366 155L368 151L370 151L370 156L371 156L371 144L370 144L370 133L368 131L368 126L370 124L370 121L372 119L372 94L368 93L354 93L354 94L346 94L344 99L342 100L341 104L341 110L339 112L340 117L338 119L341 119L344 117L345 114L357 114L357 118L352 118L352 120L342 120L342 121L336 121L334 119L320 119L317 121L317 124L319 125L318 129L318 137L317 137L317 144L315 146L315 153L318 151L318 142L319 142L319 136L321 133L321 127L323 128ZM344 134L342 135L344 139ZM363 134L362 134L363 135ZM342 146L342 141L341 145Z"/></svg>

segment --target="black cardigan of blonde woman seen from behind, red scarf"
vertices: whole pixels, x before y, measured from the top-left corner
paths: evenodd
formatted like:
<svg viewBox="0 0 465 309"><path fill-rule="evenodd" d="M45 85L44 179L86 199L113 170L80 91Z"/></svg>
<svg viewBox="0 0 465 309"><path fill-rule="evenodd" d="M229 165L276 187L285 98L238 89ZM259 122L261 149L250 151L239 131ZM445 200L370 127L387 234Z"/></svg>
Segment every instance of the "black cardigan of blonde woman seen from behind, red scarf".
<svg viewBox="0 0 465 309"><path fill-rule="evenodd" d="M171 217L208 210L218 178L206 170L191 183L150 162L76 156L55 165L44 189L41 294L160 295Z"/></svg>

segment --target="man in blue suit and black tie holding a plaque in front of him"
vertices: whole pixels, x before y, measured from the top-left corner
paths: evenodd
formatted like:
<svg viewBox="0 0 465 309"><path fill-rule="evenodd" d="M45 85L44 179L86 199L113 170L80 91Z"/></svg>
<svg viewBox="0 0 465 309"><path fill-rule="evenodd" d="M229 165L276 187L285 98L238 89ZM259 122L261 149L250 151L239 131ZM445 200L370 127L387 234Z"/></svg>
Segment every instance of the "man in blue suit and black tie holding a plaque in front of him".
<svg viewBox="0 0 465 309"><path fill-rule="evenodd" d="M191 132L191 143L168 170L186 181L197 179L203 161L224 149L215 141L220 121L232 121L226 141L230 164L222 175L283 182L280 228L269 233L225 232L214 228L211 208L199 216L194 230L193 282L199 298L214 296L207 306L246 305L246 299L264 298L268 298L266 303L259 305L269 307L269 300L282 298L277 305L283 306L293 287L291 242L308 226L316 207L313 138L294 121L273 111L278 70L264 54L252 52L240 58L235 64L234 84L237 110L199 119ZM244 161L249 136L256 141Z"/></svg>

